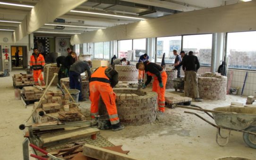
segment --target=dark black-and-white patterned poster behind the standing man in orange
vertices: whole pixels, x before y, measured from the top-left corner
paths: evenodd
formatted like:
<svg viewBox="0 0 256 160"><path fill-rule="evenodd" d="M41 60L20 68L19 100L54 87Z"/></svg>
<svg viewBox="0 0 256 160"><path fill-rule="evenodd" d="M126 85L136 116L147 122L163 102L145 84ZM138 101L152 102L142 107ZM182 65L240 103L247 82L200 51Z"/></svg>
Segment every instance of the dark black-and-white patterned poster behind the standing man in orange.
<svg viewBox="0 0 256 160"><path fill-rule="evenodd" d="M43 56L49 54L49 38L47 37L34 37L34 48Z"/></svg>

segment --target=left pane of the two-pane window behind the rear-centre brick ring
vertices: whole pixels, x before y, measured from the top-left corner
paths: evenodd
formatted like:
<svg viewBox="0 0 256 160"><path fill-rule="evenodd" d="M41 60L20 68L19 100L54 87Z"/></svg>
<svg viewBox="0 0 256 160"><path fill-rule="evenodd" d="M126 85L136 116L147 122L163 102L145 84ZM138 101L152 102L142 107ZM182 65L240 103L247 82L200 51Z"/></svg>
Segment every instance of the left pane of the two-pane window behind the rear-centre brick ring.
<svg viewBox="0 0 256 160"><path fill-rule="evenodd" d="M118 41L118 58L127 58L128 51L132 50L132 40Z"/></svg>

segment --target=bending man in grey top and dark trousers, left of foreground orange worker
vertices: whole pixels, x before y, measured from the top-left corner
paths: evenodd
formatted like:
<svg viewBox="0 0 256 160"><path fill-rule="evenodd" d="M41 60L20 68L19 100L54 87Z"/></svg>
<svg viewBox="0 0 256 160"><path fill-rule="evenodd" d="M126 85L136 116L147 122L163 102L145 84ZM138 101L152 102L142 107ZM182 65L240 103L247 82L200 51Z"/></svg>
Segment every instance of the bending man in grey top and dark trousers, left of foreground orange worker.
<svg viewBox="0 0 256 160"><path fill-rule="evenodd" d="M91 61L77 61L71 65L69 69L69 86L70 89L78 89L79 93L79 101L84 101L81 93L81 73L87 72L88 77L91 76L90 67L92 67Z"/></svg>

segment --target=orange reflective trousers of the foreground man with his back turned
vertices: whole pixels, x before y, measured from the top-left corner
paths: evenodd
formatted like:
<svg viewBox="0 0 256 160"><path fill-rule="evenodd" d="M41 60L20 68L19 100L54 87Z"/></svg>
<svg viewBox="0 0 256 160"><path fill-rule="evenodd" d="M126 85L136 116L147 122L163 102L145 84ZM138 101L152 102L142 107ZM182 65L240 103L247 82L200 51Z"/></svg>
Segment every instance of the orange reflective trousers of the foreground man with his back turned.
<svg viewBox="0 0 256 160"><path fill-rule="evenodd" d="M116 94L109 83L92 81L89 83L90 100L91 100L91 117L99 114L99 99L100 95L109 114L111 125L119 123L116 107Z"/></svg>

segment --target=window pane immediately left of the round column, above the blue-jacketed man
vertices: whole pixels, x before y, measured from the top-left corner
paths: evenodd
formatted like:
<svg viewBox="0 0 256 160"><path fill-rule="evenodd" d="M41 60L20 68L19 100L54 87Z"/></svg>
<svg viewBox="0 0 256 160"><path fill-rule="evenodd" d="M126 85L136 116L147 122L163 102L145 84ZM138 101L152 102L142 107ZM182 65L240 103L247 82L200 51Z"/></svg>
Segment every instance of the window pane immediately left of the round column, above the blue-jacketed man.
<svg viewBox="0 0 256 160"><path fill-rule="evenodd" d="M146 53L146 39L133 40L133 61L138 61L141 55Z"/></svg>

